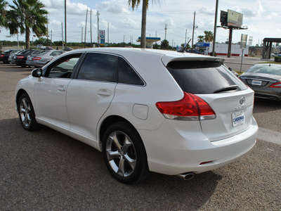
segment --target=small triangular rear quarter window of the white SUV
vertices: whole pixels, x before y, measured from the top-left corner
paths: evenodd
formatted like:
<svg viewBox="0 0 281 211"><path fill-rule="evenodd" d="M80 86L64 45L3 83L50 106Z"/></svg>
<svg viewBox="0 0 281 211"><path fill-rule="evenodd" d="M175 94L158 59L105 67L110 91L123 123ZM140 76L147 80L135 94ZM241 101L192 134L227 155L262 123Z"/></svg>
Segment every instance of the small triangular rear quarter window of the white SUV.
<svg viewBox="0 0 281 211"><path fill-rule="evenodd" d="M143 80L123 58L119 58L118 83L144 85Z"/></svg>

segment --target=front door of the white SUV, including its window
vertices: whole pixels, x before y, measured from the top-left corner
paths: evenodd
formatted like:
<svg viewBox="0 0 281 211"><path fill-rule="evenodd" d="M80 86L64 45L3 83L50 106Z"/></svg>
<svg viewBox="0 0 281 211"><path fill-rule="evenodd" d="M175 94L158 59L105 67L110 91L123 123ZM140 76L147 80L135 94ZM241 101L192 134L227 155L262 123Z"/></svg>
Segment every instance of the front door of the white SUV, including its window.
<svg viewBox="0 0 281 211"><path fill-rule="evenodd" d="M44 69L34 87L37 118L58 127L70 129L65 98L71 75L81 53L65 56Z"/></svg>

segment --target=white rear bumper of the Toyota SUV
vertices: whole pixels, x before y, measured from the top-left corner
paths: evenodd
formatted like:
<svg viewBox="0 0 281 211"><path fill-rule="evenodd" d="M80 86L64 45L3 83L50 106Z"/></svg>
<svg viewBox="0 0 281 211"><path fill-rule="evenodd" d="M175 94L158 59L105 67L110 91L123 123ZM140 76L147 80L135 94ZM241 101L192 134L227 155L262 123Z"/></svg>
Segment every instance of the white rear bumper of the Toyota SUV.
<svg viewBox="0 0 281 211"><path fill-rule="evenodd" d="M138 131L148 155L150 171L162 174L207 172L227 165L247 153L256 143L258 126L253 124L244 132L220 141L209 141L201 130L171 132L165 124L157 131ZM200 127L199 127L200 128ZM156 135L157 134L157 135ZM211 161L200 165L202 162Z"/></svg>

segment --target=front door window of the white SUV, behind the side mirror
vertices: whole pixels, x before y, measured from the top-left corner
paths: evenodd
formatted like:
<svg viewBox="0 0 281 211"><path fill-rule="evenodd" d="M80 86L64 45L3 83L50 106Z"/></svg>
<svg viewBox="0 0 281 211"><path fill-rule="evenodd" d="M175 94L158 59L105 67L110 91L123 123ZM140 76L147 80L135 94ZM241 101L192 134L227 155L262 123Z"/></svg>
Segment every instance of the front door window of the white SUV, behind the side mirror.
<svg viewBox="0 0 281 211"><path fill-rule="evenodd" d="M81 54L61 58L55 64L48 66L45 77L70 78Z"/></svg>

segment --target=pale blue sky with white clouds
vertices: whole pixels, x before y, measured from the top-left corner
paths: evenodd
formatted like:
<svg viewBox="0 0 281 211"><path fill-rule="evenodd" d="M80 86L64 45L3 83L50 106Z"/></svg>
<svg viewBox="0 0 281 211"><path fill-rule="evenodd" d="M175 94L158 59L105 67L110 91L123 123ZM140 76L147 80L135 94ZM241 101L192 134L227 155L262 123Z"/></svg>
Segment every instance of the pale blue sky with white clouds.
<svg viewBox="0 0 281 211"><path fill-rule="evenodd" d="M52 40L61 39L61 23L64 25L64 0L41 0L46 5L48 14L48 29ZM11 3L12 1L8 1ZM192 37L193 13L196 11L195 40L197 36L204 35L204 30L214 31L214 15L216 0L159 0L150 3L147 15L147 37L161 37L164 39L167 25L166 39L169 44L180 45L187 37ZM141 34L141 6L132 11L127 0L67 0L67 41L81 41L81 27L85 30L86 9L92 10L92 37L97 37L97 17L100 13L100 30L106 30L109 25L109 41L125 42L133 41ZM281 1L280 0L236 0L218 2L218 13L228 9L244 14L243 25L248 30L234 30L233 42L240 41L241 34L253 37L253 44L261 44L264 37L281 37ZM219 15L218 15L218 25ZM64 29L64 26L63 26ZM83 31L83 41L84 41ZM216 41L224 42L228 39L229 30L217 29ZM15 40L16 37L8 38L8 31L1 28L0 40ZM20 36L20 40L24 40ZM86 41L90 41L90 22L86 32Z"/></svg>

